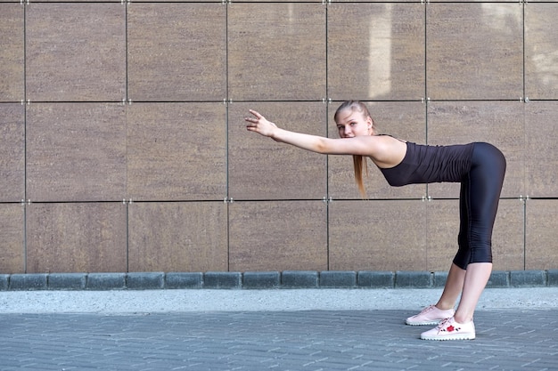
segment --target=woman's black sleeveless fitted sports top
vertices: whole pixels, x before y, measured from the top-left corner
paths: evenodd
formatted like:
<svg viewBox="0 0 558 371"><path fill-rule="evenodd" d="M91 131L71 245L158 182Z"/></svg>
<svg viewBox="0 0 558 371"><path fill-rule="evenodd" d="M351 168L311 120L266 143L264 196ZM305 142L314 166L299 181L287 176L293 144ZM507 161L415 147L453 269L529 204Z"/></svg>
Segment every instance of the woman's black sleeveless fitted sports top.
<svg viewBox="0 0 558 371"><path fill-rule="evenodd" d="M429 146L407 141L403 161L380 170L394 187L440 181L460 182L464 174L471 170L473 147L474 143Z"/></svg>

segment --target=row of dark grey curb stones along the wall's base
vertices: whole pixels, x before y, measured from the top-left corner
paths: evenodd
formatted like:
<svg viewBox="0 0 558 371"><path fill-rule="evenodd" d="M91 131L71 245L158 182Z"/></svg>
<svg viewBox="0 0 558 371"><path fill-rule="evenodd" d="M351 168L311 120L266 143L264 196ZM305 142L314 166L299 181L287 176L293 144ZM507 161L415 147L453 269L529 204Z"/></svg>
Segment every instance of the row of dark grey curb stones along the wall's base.
<svg viewBox="0 0 558 371"><path fill-rule="evenodd" d="M18 290L152 290L264 288L435 288L444 286L447 272L312 271L254 272L130 272L0 274L0 291ZM558 270L496 270L494 287L558 286Z"/></svg>

